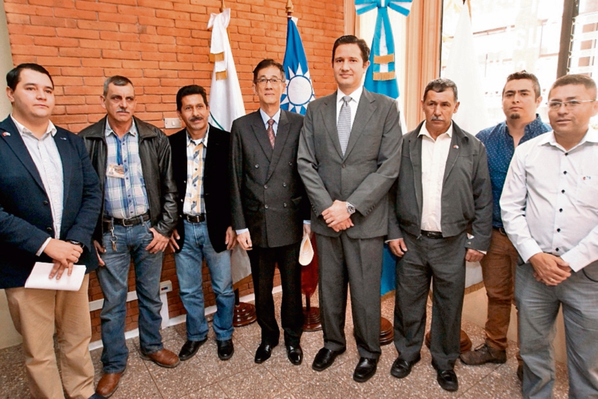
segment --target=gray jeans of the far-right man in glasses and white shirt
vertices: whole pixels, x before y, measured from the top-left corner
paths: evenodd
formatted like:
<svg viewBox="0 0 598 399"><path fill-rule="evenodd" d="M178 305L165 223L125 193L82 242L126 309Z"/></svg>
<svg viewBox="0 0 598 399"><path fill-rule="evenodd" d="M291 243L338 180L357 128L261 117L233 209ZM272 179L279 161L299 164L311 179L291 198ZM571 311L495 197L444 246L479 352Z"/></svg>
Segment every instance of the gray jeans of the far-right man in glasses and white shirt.
<svg viewBox="0 0 598 399"><path fill-rule="evenodd" d="M531 264L517 266L515 301L519 310L524 398L553 397L553 339L561 305L569 398L598 398L598 262L583 270L572 272L559 285L549 287L536 281Z"/></svg>

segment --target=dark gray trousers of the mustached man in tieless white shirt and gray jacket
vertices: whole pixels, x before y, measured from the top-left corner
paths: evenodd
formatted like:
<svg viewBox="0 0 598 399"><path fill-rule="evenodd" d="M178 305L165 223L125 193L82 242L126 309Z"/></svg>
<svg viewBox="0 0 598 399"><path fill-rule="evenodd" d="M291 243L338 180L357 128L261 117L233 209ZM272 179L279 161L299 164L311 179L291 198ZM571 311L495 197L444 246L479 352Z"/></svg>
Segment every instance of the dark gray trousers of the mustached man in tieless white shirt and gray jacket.
<svg viewBox="0 0 598 399"><path fill-rule="evenodd" d="M467 233L441 239L402 233L407 252L396 265L396 350L406 361L420 353L432 281L432 362L441 370L452 370L460 354Z"/></svg>

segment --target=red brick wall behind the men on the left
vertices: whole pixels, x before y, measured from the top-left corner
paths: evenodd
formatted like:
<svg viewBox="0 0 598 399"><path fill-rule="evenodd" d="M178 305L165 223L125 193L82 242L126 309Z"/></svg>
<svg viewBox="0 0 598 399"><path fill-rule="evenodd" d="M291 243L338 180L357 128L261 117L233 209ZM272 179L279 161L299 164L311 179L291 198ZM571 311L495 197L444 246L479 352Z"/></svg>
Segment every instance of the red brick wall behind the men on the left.
<svg viewBox="0 0 598 399"><path fill-rule="evenodd" d="M286 44L286 0L226 0L228 26L246 111L258 107L251 90L252 69L261 59L282 62ZM99 95L106 77L131 78L138 95L136 115L158 127L176 117L175 95L185 84L209 88L207 30L218 0L4 0L15 64L47 67L56 84L52 120L79 132L103 117ZM335 89L331 73L334 39L343 34L343 0L295 0L295 17L303 39L316 97ZM204 268L206 306L214 304ZM173 282L168 294L170 316L184 313L178 297L172 254L164 257L162 280ZM134 281L133 272L130 282ZM279 281L275 283L279 284ZM130 290L134 284L130 284ZM240 295L253 291L251 283ZM102 291L95 275L90 300ZM127 304L127 330L136 328L136 301ZM92 312L93 339L99 339L99 310Z"/></svg>

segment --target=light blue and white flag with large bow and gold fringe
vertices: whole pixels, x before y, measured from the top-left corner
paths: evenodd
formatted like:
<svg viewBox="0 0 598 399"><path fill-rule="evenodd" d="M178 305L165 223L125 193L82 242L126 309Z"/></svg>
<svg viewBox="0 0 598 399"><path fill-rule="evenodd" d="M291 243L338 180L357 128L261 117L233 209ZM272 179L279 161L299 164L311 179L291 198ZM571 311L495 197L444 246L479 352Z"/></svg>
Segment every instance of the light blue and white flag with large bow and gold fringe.
<svg viewBox="0 0 598 399"><path fill-rule="evenodd" d="M377 10L376 28L370 51L370 68L365 72L366 89L396 99L399 89L395 74L395 41L392 37L392 26L388 17L390 8L397 13L408 16L413 0L355 0L358 15ZM390 252L388 244L384 245L382 261L382 281L380 281L380 295L395 289L396 257Z"/></svg>

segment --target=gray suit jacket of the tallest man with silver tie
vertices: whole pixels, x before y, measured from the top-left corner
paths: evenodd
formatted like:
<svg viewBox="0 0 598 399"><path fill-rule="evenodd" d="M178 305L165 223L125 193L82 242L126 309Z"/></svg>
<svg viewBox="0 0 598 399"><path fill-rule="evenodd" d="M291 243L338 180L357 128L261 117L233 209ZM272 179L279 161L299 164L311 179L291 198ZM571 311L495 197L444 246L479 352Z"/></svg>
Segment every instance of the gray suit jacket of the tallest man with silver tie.
<svg viewBox="0 0 598 399"><path fill-rule="evenodd" d="M399 173L402 132L396 101L363 89L343 153L337 132L337 93L307 107L297 163L312 203L312 230L337 237L322 212L334 200L355 206L353 239L385 236L388 191Z"/></svg>

